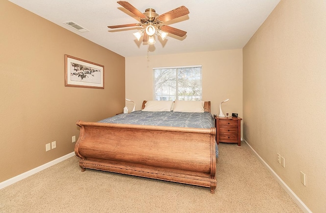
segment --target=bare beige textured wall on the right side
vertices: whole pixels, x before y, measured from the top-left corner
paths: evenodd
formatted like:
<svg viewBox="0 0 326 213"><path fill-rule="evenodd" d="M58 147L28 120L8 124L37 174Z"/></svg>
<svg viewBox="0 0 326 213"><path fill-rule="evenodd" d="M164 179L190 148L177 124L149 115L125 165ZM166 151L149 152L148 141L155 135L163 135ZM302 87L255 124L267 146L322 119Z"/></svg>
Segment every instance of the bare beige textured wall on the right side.
<svg viewBox="0 0 326 213"><path fill-rule="evenodd" d="M326 212L325 11L282 0L243 48L243 138L313 212Z"/></svg>

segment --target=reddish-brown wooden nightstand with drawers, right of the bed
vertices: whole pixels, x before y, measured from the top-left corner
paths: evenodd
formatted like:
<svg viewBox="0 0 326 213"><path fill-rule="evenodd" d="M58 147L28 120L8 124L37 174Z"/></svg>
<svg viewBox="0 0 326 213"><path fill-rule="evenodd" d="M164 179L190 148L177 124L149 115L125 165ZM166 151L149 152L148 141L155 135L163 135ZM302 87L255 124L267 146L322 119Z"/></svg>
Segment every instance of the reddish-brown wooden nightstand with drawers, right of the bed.
<svg viewBox="0 0 326 213"><path fill-rule="evenodd" d="M241 145L241 117L218 117L215 118L216 142L237 143Z"/></svg>

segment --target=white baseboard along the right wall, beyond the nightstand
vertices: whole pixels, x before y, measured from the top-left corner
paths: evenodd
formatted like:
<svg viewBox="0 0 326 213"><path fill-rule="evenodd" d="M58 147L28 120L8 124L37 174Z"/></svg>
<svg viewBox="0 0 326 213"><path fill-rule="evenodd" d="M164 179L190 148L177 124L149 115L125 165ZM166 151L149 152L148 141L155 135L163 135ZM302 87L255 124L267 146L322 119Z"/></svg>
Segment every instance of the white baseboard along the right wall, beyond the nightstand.
<svg viewBox="0 0 326 213"><path fill-rule="evenodd" d="M294 192L285 184L285 182L281 179L279 175L258 155L258 153L251 147L251 145L243 139L244 142L248 144L248 146L252 149L253 153L258 157L259 161L267 168L267 170L274 176L274 178L279 182L279 184L283 187L283 189L290 195L293 201L304 211L307 213L312 213L312 211L306 206L302 200L294 194Z"/></svg>

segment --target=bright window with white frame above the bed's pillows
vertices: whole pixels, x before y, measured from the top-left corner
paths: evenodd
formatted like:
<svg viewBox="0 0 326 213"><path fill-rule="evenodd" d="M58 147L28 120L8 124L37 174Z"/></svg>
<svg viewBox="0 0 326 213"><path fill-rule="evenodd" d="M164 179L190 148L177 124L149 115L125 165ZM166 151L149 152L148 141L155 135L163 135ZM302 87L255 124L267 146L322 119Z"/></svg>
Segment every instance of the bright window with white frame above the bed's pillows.
<svg viewBox="0 0 326 213"><path fill-rule="evenodd" d="M202 67L153 68L154 100L201 101Z"/></svg>

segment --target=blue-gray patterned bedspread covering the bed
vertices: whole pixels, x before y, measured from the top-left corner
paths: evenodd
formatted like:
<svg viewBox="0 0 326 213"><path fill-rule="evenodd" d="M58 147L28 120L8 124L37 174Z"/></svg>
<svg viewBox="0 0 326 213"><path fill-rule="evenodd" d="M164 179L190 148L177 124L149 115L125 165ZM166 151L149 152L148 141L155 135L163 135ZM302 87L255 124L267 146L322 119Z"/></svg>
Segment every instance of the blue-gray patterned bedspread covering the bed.
<svg viewBox="0 0 326 213"><path fill-rule="evenodd" d="M98 121L99 123L135 124L167 127L214 128L214 118L208 112L148 112L134 111L118 114ZM218 145L215 142L215 154L218 157Z"/></svg>

